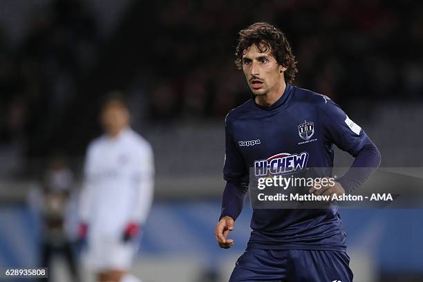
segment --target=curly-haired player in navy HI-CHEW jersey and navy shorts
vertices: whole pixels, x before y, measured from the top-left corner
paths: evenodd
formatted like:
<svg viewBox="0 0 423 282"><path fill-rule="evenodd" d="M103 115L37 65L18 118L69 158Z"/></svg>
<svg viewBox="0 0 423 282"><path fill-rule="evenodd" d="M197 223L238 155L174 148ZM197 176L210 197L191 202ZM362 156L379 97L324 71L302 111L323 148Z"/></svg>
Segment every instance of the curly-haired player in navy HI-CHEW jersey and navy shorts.
<svg viewBox="0 0 423 282"><path fill-rule="evenodd" d="M306 167L333 167L333 144L355 160L335 185L310 188L317 195L348 194L380 164L380 153L366 133L328 97L292 86L297 62L281 30L254 23L239 32L236 65L252 91L252 99L225 118L227 181L216 225L218 245L228 238L243 209L256 160L306 153ZM305 142L308 140L309 142ZM261 162L256 162L256 164ZM355 167L366 167L357 173ZM259 167L270 169L270 167ZM336 205L319 209L254 209L247 250L236 261L229 281L353 280L346 254L346 234Z"/></svg>

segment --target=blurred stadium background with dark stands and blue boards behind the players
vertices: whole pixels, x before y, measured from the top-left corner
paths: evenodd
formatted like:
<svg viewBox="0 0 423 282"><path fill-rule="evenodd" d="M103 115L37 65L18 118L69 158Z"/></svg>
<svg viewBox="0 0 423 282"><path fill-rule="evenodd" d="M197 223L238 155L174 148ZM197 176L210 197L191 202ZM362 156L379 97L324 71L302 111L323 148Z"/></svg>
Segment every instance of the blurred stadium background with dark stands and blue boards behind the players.
<svg viewBox="0 0 423 282"><path fill-rule="evenodd" d="M66 154L77 194L84 150L100 134L100 98L120 89L133 127L156 155L156 198L134 272L151 282L227 281L245 248L251 210L246 205L236 222L236 246L218 249L223 118L249 97L233 47L236 32L255 21L285 32L299 61L294 84L340 104L375 141L382 167L422 167L421 1L0 6L2 267L38 265L41 223L32 203L48 158ZM351 162L338 153L337 164ZM423 280L422 209L341 214L355 281ZM56 281L68 281L60 256L51 271Z"/></svg>

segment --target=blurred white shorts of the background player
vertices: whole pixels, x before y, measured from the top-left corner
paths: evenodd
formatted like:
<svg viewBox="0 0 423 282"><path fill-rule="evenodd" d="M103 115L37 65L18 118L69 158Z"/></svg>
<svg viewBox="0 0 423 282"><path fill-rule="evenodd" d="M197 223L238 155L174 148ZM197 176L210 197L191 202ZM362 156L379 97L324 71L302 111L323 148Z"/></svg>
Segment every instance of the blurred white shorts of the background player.
<svg viewBox="0 0 423 282"><path fill-rule="evenodd" d="M131 241L124 243L115 238L91 237L88 239L83 261L88 268L95 272L129 270L139 245L139 243Z"/></svg>

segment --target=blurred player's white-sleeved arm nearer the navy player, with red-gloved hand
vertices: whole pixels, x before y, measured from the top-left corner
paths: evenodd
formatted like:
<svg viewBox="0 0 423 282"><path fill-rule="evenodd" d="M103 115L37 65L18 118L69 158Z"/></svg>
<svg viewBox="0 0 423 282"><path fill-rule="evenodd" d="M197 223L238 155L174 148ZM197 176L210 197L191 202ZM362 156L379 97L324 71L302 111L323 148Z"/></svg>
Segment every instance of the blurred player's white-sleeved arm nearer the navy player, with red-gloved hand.
<svg viewBox="0 0 423 282"><path fill-rule="evenodd" d="M135 165L132 181L136 191L136 197L133 203L132 214L129 223L124 230L123 240L138 236L142 226L147 221L147 216L153 203L154 187L154 158L153 150L147 147L142 151L138 158L139 162Z"/></svg>

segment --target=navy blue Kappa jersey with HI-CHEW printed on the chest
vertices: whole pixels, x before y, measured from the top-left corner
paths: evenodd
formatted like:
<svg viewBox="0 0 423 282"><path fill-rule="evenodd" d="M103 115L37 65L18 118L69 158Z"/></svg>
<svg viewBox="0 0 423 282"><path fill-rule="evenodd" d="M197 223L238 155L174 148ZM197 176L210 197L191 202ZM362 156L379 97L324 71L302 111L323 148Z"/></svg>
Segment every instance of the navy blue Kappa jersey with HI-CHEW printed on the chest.
<svg viewBox="0 0 423 282"><path fill-rule="evenodd" d="M247 191L250 168L257 175L269 167L296 171L332 167L333 144L353 156L368 142L366 133L328 97L287 84L270 107L251 99L230 111L225 120L227 189ZM291 156L272 166L272 157ZM263 162L264 161L264 162ZM265 171L263 171L265 170ZM222 216L241 212L223 201ZM250 247L261 249L345 250L345 232L336 206L321 209L254 209Z"/></svg>

